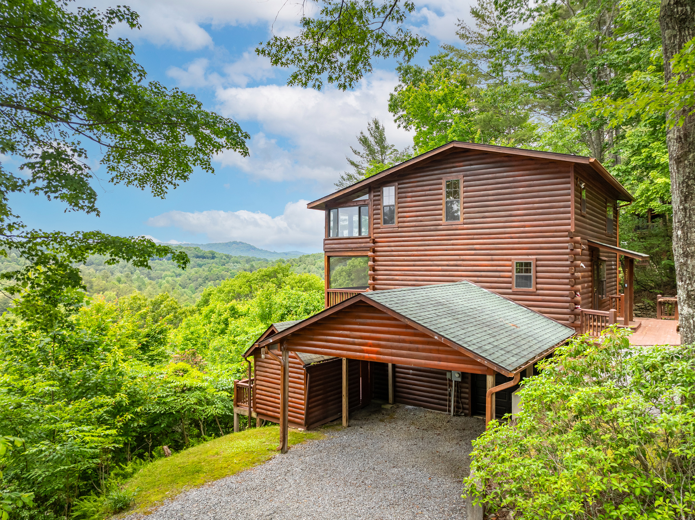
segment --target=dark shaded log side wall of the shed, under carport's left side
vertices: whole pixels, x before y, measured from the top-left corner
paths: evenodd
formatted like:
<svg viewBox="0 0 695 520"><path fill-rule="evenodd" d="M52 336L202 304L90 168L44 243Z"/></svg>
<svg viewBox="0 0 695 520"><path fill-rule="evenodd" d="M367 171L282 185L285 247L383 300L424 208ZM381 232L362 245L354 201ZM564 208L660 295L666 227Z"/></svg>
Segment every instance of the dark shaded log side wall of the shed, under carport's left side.
<svg viewBox="0 0 695 520"><path fill-rule="evenodd" d="M306 426L315 428L343 413L343 360L309 365L306 373L309 374Z"/></svg>

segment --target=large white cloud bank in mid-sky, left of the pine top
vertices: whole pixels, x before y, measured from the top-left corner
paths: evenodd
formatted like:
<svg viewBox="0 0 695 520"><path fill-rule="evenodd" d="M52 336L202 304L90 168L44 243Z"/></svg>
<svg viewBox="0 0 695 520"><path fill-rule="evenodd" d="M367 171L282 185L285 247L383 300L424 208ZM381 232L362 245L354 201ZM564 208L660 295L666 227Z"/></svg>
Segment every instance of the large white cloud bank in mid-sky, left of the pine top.
<svg viewBox="0 0 695 520"><path fill-rule="evenodd" d="M311 179L330 189L347 168L348 144L357 146L355 135L366 130L372 117L381 119L386 137L398 148L412 143L388 111L389 93L397 83L395 74L377 71L348 92L286 85L220 88L217 99L222 115L254 121L262 131L252 137L249 157L224 153L219 159L255 178Z"/></svg>

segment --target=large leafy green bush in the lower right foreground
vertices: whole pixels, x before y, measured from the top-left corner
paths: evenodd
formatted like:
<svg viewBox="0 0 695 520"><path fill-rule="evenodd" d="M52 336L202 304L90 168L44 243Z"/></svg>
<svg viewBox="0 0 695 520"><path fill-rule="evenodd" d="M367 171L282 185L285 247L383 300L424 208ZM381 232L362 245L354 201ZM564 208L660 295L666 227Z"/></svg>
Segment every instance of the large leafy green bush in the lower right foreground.
<svg viewBox="0 0 695 520"><path fill-rule="evenodd" d="M523 412L473 442L466 494L529 520L694 518L694 346L612 328L539 368Z"/></svg>

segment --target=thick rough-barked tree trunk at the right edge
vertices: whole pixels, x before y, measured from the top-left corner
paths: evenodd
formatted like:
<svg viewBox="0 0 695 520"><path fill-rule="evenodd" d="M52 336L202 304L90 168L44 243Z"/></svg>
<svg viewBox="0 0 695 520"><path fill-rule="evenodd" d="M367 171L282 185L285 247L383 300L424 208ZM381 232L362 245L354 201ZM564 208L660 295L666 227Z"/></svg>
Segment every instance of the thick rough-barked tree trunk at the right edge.
<svg viewBox="0 0 695 520"><path fill-rule="evenodd" d="M695 35L695 0L662 0L659 14L664 49L664 76L673 77L671 58ZM684 112L687 114L688 109ZM667 130L673 260L676 262L681 344L695 343L695 115Z"/></svg>

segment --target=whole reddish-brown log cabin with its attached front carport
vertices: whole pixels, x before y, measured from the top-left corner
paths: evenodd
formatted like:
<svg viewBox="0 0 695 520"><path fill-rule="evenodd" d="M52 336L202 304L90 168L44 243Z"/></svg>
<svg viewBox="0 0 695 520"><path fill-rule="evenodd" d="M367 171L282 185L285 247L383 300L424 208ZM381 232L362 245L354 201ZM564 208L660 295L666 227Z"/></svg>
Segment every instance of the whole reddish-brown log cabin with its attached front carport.
<svg viewBox="0 0 695 520"><path fill-rule="evenodd" d="M352 409L348 360L374 363L361 369L359 387L367 389L361 405L385 377L389 402L466 414L481 412L476 403L482 402L486 419L496 417L510 408L505 392L531 373L541 354L577 331L636 325L634 261L648 257L619 246L618 225L620 208L632 200L594 158L450 142L309 203L325 213L326 310L270 330L245 354L279 364L273 417L286 427L280 387L290 374L281 374L290 352L343 360L345 424ZM461 298L471 287L496 312L471 308L471 294ZM450 291L455 304L446 299ZM435 317L446 314L450 328L427 321L417 304L424 296ZM411 306L402 308L398 299ZM534 315L521 330L531 336L505 364L498 356L509 357L515 348L505 338L522 327L514 322L518 309ZM486 334L498 321L507 328ZM557 335L536 335L545 328ZM487 344L461 336L463 330ZM260 381L253 384L261 392Z"/></svg>

